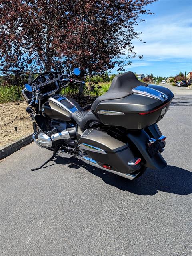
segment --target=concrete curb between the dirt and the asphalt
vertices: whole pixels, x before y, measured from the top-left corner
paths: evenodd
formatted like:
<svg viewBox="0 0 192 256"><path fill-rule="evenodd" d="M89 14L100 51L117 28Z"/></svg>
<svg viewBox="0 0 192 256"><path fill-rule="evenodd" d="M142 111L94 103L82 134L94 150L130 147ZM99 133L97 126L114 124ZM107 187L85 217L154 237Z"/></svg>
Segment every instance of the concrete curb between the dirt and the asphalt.
<svg viewBox="0 0 192 256"><path fill-rule="evenodd" d="M6 158L7 156L13 154L17 150L20 150L20 148L31 143L33 141L32 135L33 135L33 133L31 133L30 135L28 135L26 137L22 137L18 141L13 142L13 143L7 145L6 147L1 147L0 148L0 160L3 158Z"/></svg>

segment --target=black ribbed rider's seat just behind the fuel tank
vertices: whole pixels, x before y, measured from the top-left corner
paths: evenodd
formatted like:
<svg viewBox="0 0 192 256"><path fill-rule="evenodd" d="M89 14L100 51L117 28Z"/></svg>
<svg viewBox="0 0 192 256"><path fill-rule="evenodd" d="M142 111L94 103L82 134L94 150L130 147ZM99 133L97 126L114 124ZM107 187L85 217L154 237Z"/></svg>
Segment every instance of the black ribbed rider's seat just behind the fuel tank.
<svg viewBox="0 0 192 256"><path fill-rule="evenodd" d="M92 111L81 111L78 110L72 114L72 118L78 126L85 130L89 128L91 123L100 123L100 121L96 118L96 116L92 113Z"/></svg>

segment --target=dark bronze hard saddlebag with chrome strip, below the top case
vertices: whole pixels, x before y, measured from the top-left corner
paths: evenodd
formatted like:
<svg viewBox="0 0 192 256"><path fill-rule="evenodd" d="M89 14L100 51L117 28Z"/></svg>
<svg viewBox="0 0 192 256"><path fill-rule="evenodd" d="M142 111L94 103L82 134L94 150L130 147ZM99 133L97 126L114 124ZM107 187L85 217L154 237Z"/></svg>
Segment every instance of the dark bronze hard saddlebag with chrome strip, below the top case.
<svg viewBox="0 0 192 256"><path fill-rule="evenodd" d="M122 173L132 173L141 168L140 164L130 166L136 156L127 143L119 141L98 129L86 129L78 145L100 166Z"/></svg>

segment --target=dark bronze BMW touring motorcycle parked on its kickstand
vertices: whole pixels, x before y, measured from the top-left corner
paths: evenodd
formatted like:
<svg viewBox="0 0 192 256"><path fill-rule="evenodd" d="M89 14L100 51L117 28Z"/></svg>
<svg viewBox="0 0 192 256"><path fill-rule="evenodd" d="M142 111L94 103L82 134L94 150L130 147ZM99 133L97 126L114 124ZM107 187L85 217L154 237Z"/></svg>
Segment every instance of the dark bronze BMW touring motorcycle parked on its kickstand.
<svg viewBox="0 0 192 256"><path fill-rule="evenodd" d="M91 166L129 180L140 177L146 168L162 169L166 136L157 123L170 106L174 94L165 87L139 81L133 72L116 76L109 90L96 98L90 111L69 96L59 93L77 80L72 74L44 72L25 84L27 102L35 132L34 142L53 151L65 152Z"/></svg>

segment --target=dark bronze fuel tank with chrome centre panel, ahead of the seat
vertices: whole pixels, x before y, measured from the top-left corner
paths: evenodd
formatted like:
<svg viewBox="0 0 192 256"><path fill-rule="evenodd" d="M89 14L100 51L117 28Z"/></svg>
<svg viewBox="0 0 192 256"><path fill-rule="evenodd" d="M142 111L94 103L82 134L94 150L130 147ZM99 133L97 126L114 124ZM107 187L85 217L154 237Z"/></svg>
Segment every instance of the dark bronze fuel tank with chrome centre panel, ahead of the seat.
<svg viewBox="0 0 192 256"><path fill-rule="evenodd" d="M77 110L82 109L74 99L60 94L50 97L42 105L42 111L47 117L62 121L71 121L72 114Z"/></svg>

